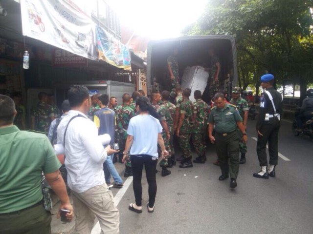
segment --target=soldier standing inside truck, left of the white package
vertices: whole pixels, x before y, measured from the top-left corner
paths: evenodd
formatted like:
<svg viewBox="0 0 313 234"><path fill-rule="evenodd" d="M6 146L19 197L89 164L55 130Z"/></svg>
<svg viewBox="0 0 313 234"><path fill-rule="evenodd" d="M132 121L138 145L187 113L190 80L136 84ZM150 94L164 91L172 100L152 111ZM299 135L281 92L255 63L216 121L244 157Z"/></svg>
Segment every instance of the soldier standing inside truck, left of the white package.
<svg viewBox="0 0 313 234"><path fill-rule="evenodd" d="M167 58L167 69L171 80L171 98L175 98L175 85L179 84L179 64L176 56L178 55L178 49L175 48L173 55Z"/></svg>

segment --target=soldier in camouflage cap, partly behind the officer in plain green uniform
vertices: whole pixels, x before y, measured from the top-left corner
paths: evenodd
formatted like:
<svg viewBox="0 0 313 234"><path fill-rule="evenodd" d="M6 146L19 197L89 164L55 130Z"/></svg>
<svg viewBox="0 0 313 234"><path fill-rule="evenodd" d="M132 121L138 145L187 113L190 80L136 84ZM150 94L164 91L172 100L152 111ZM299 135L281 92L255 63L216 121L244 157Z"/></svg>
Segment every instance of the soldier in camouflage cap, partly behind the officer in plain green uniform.
<svg viewBox="0 0 313 234"><path fill-rule="evenodd" d="M248 102L244 99L240 97L240 93L241 93L241 88L240 87L233 87L232 89L232 98L230 100L230 104L233 104L234 106L237 107L240 116L243 119L243 124L246 128L246 123L248 120L248 112L249 112L249 106L248 106ZM246 143L243 142L242 140L242 135L241 132L239 132L239 150L241 153L241 157L240 157L240 164L244 164L246 163Z"/></svg>

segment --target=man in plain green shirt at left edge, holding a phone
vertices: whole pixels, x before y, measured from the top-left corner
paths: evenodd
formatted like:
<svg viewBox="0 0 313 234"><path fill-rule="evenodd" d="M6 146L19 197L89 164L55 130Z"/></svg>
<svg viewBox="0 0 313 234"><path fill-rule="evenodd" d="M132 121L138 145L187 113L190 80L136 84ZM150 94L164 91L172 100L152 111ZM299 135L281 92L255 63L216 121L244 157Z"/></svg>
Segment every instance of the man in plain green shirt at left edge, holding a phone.
<svg viewBox="0 0 313 234"><path fill-rule="evenodd" d="M16 115L11 98L0 95L0 233L50 234L51 214L45 210L42 172L61 209L73 217L61 163L44 134L20 131L13 126ZM60 217L60 213L57 215Z"/></svg>

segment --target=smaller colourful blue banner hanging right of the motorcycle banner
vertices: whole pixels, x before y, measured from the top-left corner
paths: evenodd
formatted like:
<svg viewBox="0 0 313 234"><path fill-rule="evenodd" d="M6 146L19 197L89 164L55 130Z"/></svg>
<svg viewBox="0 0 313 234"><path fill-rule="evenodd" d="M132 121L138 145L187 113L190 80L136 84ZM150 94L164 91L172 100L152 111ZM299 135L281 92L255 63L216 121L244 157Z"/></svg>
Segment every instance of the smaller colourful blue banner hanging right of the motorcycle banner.
<svg viewBox="0 0 313 234"><path fill-rule="evenodd" d="M127 46L101 27L96 27L98 58L107 63L131 71L131 55Z"/></svg>

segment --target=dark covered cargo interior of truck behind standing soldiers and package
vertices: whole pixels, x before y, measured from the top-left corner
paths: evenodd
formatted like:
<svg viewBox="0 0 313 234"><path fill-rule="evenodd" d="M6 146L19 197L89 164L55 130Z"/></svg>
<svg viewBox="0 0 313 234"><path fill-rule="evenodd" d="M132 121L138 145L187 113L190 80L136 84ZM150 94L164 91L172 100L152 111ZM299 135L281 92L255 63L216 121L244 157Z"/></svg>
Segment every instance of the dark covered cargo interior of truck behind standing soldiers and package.
<svg viewBox="0 0 313 234"><path fill-rule="evenodd" d="M221 64L219 74L220 91L230 94L232 85L236 85L238 82L238 75L235 39L229 35L195 36L151 41L147 51L149 91L156 89L156 86L159 90L171 90L167 58L173 54L175 48L178 49L176 58L179 63L180 79L188 66L209 67L210 57L208 51L213 48Z"/></svg>

